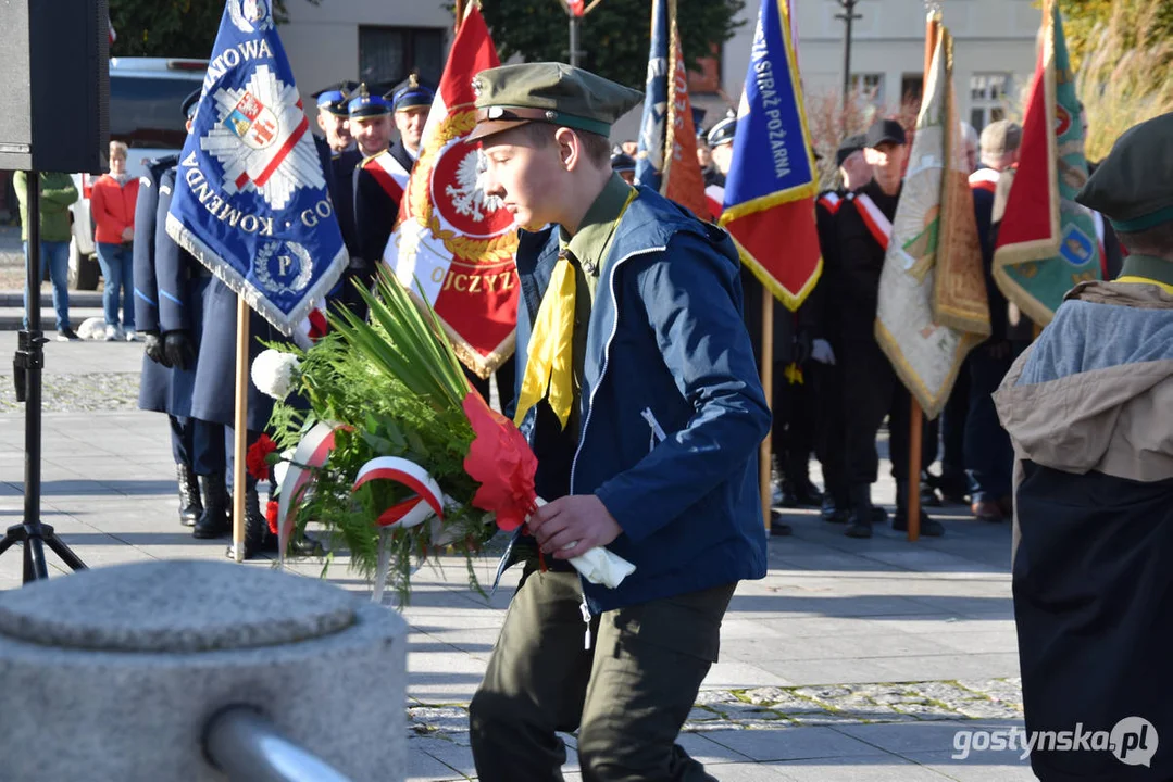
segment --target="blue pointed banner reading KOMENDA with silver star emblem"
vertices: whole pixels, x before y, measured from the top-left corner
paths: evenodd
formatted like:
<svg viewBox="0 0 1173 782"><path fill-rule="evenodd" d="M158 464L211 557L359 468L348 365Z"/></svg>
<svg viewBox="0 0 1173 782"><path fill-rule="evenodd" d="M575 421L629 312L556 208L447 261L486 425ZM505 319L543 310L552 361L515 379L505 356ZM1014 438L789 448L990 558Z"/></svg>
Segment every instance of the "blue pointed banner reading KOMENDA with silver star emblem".
<svg viewBox="0 0 1173 782"><path fill-rule="evenodd" d="M167 232L285 334L348 263L265 0L228 0Z"/></svg>

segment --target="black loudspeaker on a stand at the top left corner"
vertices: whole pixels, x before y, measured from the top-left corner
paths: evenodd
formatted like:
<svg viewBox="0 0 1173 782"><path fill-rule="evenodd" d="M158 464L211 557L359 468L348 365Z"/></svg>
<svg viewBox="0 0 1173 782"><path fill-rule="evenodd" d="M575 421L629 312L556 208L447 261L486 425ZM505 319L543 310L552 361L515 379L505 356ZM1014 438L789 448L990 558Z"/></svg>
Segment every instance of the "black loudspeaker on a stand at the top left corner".
<svg viewBox="0 0 1173 782"><path fill-rule="evenodd" d="M107 0L0 0L0 169L101 171Z"/></svg>

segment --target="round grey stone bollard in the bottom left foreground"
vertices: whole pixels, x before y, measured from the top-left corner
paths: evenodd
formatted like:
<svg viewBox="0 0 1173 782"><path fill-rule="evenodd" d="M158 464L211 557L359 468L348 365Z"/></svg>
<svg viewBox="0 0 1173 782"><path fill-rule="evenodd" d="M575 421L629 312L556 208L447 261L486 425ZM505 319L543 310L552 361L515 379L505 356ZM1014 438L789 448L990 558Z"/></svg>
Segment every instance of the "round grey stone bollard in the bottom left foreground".
<svg viewBox="0 0 1173 782"><path fill-rule="evenodd" d="M407 632L324 582L218 562L0 593L0 778L222 782L204 730L243 705L354 782L404 780Z"/></svg>

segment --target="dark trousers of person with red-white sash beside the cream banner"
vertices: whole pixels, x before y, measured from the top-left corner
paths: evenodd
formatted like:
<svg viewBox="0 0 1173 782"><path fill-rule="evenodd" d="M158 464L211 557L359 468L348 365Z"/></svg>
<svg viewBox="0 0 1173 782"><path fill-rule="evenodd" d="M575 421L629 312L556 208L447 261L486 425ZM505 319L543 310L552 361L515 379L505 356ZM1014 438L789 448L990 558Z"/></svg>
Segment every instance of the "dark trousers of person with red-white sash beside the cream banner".
<svg viewBox="0 0 1173 782"><path fill-rule="evenodd" d="M865 487L880 477L876 433L888 416L888 455L896 482L908 481L908 435L911 397L891 368L888 356L874 339L848 336L843 340L843 363L852 369L852 381L843 383L843 429L847 450L847 481ZM922 458L936 455L937 431L925 426L921 440ZM903 503L903 498L900 498Z"/></svg>

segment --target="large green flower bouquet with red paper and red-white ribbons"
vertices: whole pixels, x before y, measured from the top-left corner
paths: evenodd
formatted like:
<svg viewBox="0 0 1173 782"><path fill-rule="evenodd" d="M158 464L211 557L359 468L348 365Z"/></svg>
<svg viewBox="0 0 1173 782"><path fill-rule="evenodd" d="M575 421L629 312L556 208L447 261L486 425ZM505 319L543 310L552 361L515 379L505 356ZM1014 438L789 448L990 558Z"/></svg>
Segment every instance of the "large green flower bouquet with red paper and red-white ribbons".
<svg viewBox="0 0 1173 782"><path fill-rule="evenodd" d="M472 389L430 308L381 272L378 295L360 291L369 322L332 313L330 333L294 353L263 353L257 386L279 401L276 526L280 551L307 521L350 550L352 565L400 601L413 564L449 550L472 557L541 504L537 460L513 422ZM332 545L331 549L334 546ZM328 566L327 556L327 566ZM597 548L570 559L585 578L617 586L633 566Z"/></svg>

